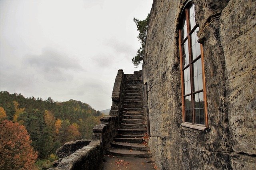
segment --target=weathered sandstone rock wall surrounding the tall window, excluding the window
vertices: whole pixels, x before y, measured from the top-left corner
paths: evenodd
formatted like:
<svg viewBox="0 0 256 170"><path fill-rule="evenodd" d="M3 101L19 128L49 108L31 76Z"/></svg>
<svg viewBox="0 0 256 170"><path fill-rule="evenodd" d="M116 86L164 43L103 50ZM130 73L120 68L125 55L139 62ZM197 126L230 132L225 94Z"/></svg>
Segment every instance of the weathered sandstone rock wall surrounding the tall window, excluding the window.
<svg viewBox="0 0 256 170"><path fill-rule="evenodd" d="M142 67L153 158L160 169L255 169L256 3L194 1L208 103L201 131L180 126L178 20L186 2L154 1L151 9Z"/></svg>

